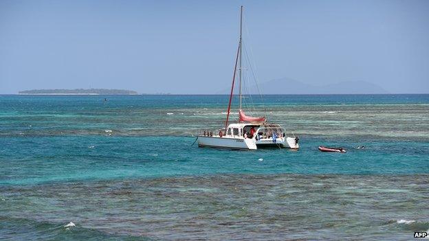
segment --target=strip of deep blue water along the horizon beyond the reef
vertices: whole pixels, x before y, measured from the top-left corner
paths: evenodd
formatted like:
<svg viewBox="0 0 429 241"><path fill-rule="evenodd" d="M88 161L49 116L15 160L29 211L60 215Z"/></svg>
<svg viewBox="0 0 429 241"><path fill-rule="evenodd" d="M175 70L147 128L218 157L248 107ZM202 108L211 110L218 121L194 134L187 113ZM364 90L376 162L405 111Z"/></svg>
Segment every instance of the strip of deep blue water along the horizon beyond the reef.
<svg viewBox="0 0 429 241"><path fill-rule="evenodd" d="M86 109L100 106L104 98L111 107L224 107L229 95L0 95L2 111L52 111L61 108ZM336 104L429 104L429 94L386 95L252 95L254 104L267 106ZM234 96L234 102L237 98ZM233 104L234 104L233 102ZM113 106L110 105L114 103Z"/></svg>

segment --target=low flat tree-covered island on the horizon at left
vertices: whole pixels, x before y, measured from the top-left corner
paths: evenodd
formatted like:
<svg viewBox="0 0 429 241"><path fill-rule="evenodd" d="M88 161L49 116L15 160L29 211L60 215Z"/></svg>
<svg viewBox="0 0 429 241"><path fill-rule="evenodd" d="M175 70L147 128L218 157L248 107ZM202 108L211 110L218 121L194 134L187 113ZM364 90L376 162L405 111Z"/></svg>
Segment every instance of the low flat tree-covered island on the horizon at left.
<svg viewBox="0 0 429 241"><path fill-rule="evenodd" d="M32 89L19 91L20 95L137 95L125 89Z"/></svg>

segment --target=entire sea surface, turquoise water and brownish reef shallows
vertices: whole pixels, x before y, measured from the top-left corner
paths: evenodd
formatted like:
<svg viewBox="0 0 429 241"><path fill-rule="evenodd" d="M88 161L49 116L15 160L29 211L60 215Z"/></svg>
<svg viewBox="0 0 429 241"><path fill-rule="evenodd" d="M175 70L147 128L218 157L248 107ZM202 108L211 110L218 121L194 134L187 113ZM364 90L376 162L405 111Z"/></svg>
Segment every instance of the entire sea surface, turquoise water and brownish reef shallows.
<svg viewBox="0 0 429 241"><path fill-rule="evenodd" d="M0 95L0 238L404 240L429 229L429 95L256 99L253 112L265 107L300 150L192 146L222 126L225 95Z"/></svg>

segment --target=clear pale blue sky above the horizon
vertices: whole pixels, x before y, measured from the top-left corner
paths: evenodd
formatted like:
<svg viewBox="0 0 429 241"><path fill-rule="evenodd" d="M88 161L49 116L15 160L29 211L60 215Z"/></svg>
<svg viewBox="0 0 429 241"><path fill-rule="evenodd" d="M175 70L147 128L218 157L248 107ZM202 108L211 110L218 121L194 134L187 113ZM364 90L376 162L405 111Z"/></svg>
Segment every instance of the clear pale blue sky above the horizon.
<svg viewBox="0 0 429 241"><path fill-rule="evenodd" d="M239 6L260 83L429 93L429 1L0 1L0 93L218 93Z"/></svg>

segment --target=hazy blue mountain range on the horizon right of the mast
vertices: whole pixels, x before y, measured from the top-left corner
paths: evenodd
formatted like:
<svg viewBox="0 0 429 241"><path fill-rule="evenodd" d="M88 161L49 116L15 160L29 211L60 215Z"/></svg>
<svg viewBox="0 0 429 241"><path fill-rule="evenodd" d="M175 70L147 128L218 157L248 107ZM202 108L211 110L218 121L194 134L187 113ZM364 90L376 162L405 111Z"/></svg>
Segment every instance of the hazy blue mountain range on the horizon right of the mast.
<svg viewBox="0 0 429 241"><path fill-rule="evenodd" d="M259 85L262 94L375 94L388 93L377 84L365 81L344 81L319 86L306 84L290 78L269 80ZM256 85L248 87L248 93L259 93ZM220 93L220 92L219 92ZM223 93L228 93L225 91Z"/></svg>

